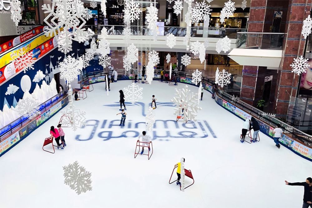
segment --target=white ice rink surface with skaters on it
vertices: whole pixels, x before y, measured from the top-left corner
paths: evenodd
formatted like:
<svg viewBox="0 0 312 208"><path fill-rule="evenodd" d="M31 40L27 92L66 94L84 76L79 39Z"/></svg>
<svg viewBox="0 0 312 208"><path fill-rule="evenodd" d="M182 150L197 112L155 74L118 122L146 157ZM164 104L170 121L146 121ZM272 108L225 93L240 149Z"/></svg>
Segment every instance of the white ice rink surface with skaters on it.
<svg viewBox="0 0 312 208"><path fill-rule="evenodd" d="M302 206L304 188L286 186L311 177L312 164L260 133L260 142L241 143L243 120L219 106L204 91L197 122L175 122L175 88L154 80L143 87L143 99L126 103L127 118L119 127L119 90L132 81L94 84L87 99L74 101L86 111L87 126L73 132L63 128L67 146L55 154L42 144L61 112L0 157L0 201L7 207L281 207ZM188 85L194 93L198 88ZM152 95L154 153L134 158L137 135L145 130L145 114ZM126 101L128 102L128 101ZM66 106L69 107L69 106ZM54 142L55 143L55 142ZM145 150L145 152L147 152ZM185 158L193 186L180 191L169 184L174 165ZM92 191L79 196L64 184L63 166L78 161L92 172ZM176 173L173 173L176 180ZM185 184L192 181L186 177Z"/></svg>

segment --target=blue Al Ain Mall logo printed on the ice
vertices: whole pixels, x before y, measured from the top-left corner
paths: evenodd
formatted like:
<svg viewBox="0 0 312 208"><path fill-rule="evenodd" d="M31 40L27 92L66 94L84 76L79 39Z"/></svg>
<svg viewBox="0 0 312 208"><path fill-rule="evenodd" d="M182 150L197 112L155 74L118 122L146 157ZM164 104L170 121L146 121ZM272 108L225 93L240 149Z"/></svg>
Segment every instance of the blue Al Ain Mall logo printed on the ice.
<svg viewBox="0 0 312 208"><path fill-rule="evenodd" d="M131 104L126 102L127 106L138 106L142 108L142 116L146 116L145 114L145 104L141 102L137 102L135 104ZM104 105L108 107L118 107L120 106L119 102L116 102L116 104L110 104L110 105ZM173 103L161 103L159 102L157 104L158 107L160 106L168 106L168 107L174 107ZM174 115L172 115L174 117ZM101 131L97 134L97 137L103 138L103 141L108 141L112 138L136 138L139 136L139 134L142 132L141 129L145 129L145 118L144 122L137 122L132 123L132 120L128 120L127 125L125 127L119 127L120 119L116 120L103 120L99 121L96 119L91 119L86 121L86 125L82 128L89 128L92 126L92 131L89 134L88 138L83 138L82 135L76 135L76 140L78 141L88 141L93 139L95 136L95 132L99 128L101 129L110 129L113 126L118 126L120 128L119 131ZM188 121L187 123L184 122L176 122L176 120L156 120L154 124L154 129L163 129L163 131L153 131L151 133L152 140L155 140L158 138L160 141L169 141L168 138L207 138L208 133L207 130L210 132L213 138L217 138L215 133L213 132L212 128L209 126L208 122L206 120L197 120L194 121ZM129 130L128 130L129 129ZM168 129L168 130L165 130ZM125 130L125 131L122 131ZM87 132L84 130L83 132ZM96 137L95 137L96 138ZM164 139L163 139L164 138Z"/></svg>

